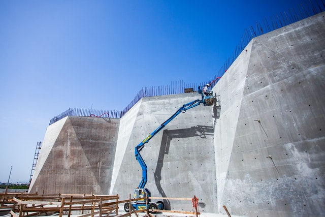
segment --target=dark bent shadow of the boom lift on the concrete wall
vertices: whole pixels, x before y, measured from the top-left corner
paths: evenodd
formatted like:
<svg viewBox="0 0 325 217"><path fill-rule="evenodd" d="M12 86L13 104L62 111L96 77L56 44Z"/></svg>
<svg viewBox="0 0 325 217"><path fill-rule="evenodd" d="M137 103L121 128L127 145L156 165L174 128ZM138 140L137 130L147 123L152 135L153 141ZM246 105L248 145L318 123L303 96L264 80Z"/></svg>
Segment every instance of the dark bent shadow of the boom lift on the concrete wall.
<svg viewBox="0 0 325 217"><path fill-rule="evenodd" d="M177 130L164 130L163 137L161 138L160 149L158 154L158 161L154 174L154 180L161 197L167 197L164 189L161 187L161 168L164 165L165 154L169 152L169 146L172 139L176 138L188 138L199 136L206 138L207 135L213 135L213 127L198 125L191 128L177 129ZM165 209L170 210L171 205L169 200L164 200Z"/></svg>

